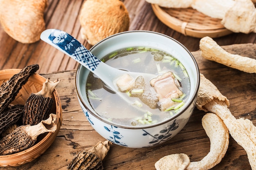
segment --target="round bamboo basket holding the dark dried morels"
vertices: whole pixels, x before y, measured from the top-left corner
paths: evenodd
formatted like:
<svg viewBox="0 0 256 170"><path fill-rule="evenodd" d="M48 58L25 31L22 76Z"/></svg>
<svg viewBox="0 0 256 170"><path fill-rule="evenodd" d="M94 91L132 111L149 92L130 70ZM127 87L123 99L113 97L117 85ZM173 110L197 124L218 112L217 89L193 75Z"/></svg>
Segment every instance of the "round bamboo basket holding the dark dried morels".
<svg viewBox="0 0 256 170"><path fill-rule="evenodd" d="M7 69L0 71L0 85L18 72L20 72L20 69ZM39 74L31 75L28 79L28 82L22 86L18 95L16 96L16 99L11 104L25 104L31 93L36 93L42 89L43 83L45 81L46 79ZM47 132L39 135L36 144L27 150L11 155L0 156L0 167L20 166L24 163L31 162L42 155L47 150L47 148L51 146L61 128L62 123L61 102L56 90L54 90L52 97L54 99L54 104L51 113L54 113L57 116L55 122L57 124L56 131L54 133Z"/></svg>

